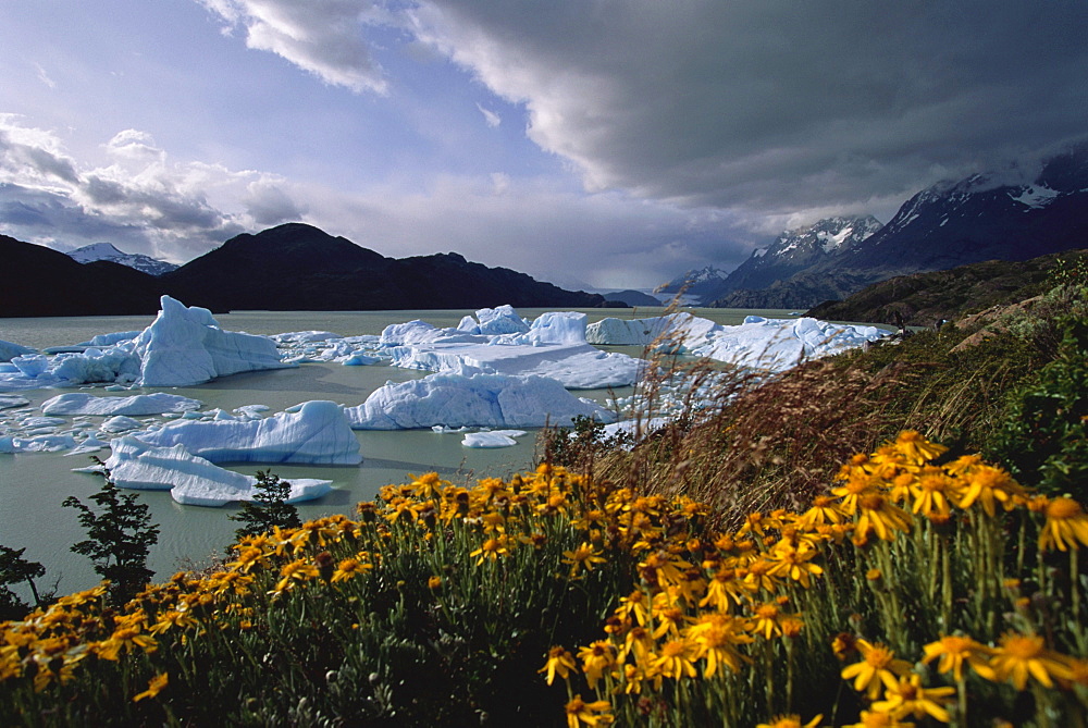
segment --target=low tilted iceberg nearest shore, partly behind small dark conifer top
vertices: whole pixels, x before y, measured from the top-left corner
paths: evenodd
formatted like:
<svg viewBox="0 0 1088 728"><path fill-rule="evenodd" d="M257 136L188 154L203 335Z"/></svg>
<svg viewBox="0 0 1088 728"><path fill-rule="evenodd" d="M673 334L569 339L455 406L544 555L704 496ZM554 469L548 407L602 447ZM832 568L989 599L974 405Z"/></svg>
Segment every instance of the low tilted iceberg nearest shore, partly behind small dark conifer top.
<svg viewBox="0 0 1088 728"><path fill-rule="evenodd" d="M193 455L184 445L154 447L127 436L110 443L113 451L106 460L113 482L133 490L170 491L177 503L194 506L222 506L233 501L252 501L257 479ZM287 503L320 498L332 489L331 480L290 481Z"/></svg>

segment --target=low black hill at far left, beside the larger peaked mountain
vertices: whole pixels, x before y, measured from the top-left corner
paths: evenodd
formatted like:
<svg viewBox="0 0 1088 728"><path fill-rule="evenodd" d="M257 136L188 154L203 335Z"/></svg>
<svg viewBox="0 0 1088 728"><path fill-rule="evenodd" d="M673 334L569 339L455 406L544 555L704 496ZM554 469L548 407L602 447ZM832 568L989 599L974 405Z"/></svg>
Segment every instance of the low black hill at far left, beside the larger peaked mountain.
<svg viewBox="0 0 1088 728"><path fill-rule="evenodd" d="M78 263L40 245L0 235L0 317L122 316L159 310L158 280L108 260Z"/></svg>

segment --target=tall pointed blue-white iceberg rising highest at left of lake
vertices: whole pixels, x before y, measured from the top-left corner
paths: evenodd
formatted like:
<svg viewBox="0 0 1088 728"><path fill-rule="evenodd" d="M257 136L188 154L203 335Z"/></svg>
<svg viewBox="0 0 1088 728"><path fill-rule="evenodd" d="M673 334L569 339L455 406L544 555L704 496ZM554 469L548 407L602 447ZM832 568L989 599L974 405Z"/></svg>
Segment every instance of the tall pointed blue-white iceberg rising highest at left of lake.
<svg viewBox="0 0 1088 728"><path fill-rule="evenodd" d="M243 371L282 369L275 342L267 336L227 332L211 311L161 299L154 322L134 340L140 360L138 386L189 386Z"/></svg>

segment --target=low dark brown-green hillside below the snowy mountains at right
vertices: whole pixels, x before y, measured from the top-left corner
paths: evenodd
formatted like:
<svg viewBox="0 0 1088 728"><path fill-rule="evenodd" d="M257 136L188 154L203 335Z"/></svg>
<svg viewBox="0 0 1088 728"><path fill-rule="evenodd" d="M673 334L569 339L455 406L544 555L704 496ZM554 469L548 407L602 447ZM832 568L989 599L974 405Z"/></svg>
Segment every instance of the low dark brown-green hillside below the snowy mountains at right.
<svg viewBox="0 0 1088 728"><path fill-rule="evenodd" d="M1079 262L1078 262L1079 261ZM951 270L899 275L829 300L806 316L831 321L869 321L911 326L956 320L992 306L1021 301L1044 292L1054 270L1088 263L1088 249L1066 250L1025 261L988 260Z"/></svg>

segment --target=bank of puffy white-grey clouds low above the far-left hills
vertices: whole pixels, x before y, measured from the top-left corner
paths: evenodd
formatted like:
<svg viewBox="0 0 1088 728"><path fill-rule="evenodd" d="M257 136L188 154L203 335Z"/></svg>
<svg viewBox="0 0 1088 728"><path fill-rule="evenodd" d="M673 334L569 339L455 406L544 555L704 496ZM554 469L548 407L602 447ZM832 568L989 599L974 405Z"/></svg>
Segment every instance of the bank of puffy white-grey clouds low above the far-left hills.
<svg viewBox="0 0 1088 728"><path fill-rule="evenodd" d="M112 164L81 163L57 134L0 115L3 232L61 247L104 236L124 242L126 249L185 261L259 224L243 198L250 185L259 193L277 181L258 172L173 162L137 129L118 133L103 147ZM249 207L262 214L269 209Z"/></svg>

